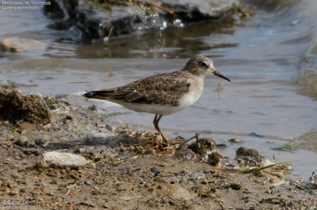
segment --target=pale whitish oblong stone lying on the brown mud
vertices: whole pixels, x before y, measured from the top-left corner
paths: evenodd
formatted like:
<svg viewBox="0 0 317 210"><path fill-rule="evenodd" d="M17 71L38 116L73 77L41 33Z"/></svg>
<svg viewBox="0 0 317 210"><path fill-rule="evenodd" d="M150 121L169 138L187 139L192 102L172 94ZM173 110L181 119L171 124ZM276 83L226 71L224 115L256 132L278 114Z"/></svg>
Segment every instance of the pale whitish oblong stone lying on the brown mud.
<svg viewBox="0 0 317 210"><path fill-rule="evenodd" d="M42 154L36 165L40 168L74 168L86 165L86 159L73 153L52 151Z"/></svg>

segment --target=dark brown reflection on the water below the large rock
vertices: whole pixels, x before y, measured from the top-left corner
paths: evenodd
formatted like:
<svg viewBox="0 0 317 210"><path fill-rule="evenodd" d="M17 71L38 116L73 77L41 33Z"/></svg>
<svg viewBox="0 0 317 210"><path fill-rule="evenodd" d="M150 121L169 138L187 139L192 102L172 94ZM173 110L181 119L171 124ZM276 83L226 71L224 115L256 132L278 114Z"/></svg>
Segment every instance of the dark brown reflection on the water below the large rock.
<svg viewBox="0 0 317 210"><path fill-rule="evenodd" d="M213 42L212 34L232 35L234 23L228 20L191 24L184 28L166 29L136 38L110 39L107 43L95 41L82 44L75 50L79 58L188 58L195 54L208 53L217 48L237 47L238 43ZM214 54L212 57L222 57Z"/></svg>

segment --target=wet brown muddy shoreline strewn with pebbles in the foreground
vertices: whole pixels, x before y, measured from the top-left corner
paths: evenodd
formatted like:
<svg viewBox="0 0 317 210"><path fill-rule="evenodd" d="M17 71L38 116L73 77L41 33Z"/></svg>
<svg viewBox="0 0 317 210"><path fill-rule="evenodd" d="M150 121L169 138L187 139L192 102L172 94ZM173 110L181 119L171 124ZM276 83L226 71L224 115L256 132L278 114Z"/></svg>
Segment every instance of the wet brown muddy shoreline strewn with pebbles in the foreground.
<svg viewBox="0 0 317 210"><path fill-rule="evenodd" d="M212 166L205 155L185 147L153 154L148 144L142 144L155 136L151 132L114 126L106 117L97 118L92 104L72 105L66 96L43 101L50 123L3 116L0 120L3 200L24 201L21 205L35 209L317 207L313 176L310 181L286 180L283 173L289 172L281 168L243 173L237 168L244 163L226 158ZM37 167L38 158L49 151L81 155L87 163L74 168Z"/></svg>

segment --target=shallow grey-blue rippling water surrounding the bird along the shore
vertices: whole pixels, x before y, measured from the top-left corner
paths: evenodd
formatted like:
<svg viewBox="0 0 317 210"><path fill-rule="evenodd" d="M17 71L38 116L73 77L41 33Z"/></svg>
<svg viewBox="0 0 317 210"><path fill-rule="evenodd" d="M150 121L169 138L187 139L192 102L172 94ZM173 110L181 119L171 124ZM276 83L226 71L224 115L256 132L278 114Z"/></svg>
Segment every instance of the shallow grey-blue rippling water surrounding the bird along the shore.
<svg viewBox="0 0 317 210"><path fill-rule="evenodd" d="M254 15L238 20L197 23L138 37L80 44L69 30L50 29L56 20L39 10L0 13L0 40L42 41L45 49L0 54L0 82L13 82L23 94L70 94L78 105L94 103L122 115L137 130L155 131L153 115L112 103L91 101L76 92L124 85L155 73L178 70L195 54L212 58L231 82L209 76L204 92L190 108L165 116L160 128L167 137L212 137L226 143L225 156L239 146L260 150L276 162L291 163L294 174L307 178L317 168L317 2L262 1ZM314 8L314 9L313 9ZM114 73L109 78L102 67ZM217 92L221 83L223 90ZM70 101L72 103L72 101ZM117 119L118 118L118 119ZM211 131L211 132L210 132ZM255 132L263 137L249 134ZM228 142L242 138L241 145ZM300 150L272 150L294 143Z"/></svg>

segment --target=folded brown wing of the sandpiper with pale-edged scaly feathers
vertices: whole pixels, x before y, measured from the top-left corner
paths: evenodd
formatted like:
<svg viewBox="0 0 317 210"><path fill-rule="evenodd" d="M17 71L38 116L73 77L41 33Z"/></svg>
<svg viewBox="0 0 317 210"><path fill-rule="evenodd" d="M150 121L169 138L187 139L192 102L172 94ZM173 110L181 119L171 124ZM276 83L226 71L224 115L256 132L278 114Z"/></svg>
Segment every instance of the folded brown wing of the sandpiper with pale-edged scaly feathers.
<svg viewBox="0 0 317 210"><path fill-rule="evenodd" d="M178 105L189 85L188 77L176 71L146 77L121 87L87 92L84 96L130 103Z"/></svg>

